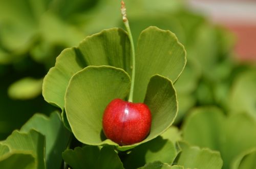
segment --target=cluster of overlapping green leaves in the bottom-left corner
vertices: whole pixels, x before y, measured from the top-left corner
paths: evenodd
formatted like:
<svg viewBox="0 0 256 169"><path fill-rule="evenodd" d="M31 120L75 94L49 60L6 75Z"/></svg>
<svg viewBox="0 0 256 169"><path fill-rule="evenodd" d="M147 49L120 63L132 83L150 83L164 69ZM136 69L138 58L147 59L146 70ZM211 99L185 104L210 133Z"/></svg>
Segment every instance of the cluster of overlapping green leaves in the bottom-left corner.
<svg viewBox="0 0 256 169"><path fill-rule="evenodd" d="M20 130L0 142L1 168L60 168L70 139L59 113L35 114Z"/></svg>

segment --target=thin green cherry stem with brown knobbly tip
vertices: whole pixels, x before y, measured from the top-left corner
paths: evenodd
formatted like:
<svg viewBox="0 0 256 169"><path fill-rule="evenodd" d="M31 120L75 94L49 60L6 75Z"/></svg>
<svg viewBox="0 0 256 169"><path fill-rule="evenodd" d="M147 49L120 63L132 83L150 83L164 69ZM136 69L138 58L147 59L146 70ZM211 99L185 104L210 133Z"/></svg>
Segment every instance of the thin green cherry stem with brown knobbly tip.
<svg viewBox="0 0 256 169"><path fill-rule="evenodd" d="M131 65L131 68L132 68L132 79L131 80L132 81L131 81L131 90L130 90L128 101L133 102L133 91L134 91L134 81L135 81L135 49L134 49L133 36L131 33L129 21L126 18L126 8L125 8L125 4L123 1L121 1L121 13L123 16L123 23L124 23L124 26L128 33L128 37L129 37L131 47L132 47L132 65Z"/></svg>

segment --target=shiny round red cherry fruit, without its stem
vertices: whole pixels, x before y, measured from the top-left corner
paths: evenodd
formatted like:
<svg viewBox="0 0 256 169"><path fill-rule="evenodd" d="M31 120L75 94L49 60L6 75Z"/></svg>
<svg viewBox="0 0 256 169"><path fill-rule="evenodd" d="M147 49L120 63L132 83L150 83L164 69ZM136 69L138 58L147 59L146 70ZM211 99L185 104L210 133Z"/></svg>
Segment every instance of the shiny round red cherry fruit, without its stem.
<svg viewBox="0 0 256 169"><path fill-rule="evenodd" d="M113 142L132 145L148 135L151 121L151 111L144 103L114 99L104 110L102 127L105 136Z"/></svg>

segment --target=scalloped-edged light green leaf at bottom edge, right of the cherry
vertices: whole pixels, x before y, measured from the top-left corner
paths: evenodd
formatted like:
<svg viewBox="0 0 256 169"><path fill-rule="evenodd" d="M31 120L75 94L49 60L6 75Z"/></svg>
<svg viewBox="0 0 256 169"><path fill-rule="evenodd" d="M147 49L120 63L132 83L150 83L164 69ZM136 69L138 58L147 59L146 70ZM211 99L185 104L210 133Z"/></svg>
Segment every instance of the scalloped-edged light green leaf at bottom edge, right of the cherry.
<svg viewBox="0 0 256 169"><path fill-rule="evenodd" d="M184 143L181 144L182 152L178 159L178 165L185 168L221 169L223 161L219 152L211 151L208 148L200 149L199 147L190 147Z"/></svg>

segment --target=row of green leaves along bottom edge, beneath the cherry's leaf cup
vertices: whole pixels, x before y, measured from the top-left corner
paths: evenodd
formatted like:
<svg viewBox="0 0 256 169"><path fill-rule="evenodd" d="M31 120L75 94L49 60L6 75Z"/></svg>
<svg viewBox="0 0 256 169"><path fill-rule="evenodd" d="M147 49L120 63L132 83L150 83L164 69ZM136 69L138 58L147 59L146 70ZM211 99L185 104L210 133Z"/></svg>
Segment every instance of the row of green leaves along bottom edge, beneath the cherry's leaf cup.
<svg viewBox="0 0 256 169"><path fill-rule="evenodd" d="M63 159L76 168L221 168L220 153L180 142L177 128L170 127L164 136L150 140L126 152L113 147L84 146L63 152ZM107 154L104 154L107 153Z"/></svg>

